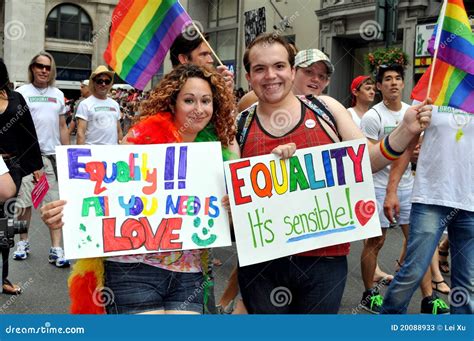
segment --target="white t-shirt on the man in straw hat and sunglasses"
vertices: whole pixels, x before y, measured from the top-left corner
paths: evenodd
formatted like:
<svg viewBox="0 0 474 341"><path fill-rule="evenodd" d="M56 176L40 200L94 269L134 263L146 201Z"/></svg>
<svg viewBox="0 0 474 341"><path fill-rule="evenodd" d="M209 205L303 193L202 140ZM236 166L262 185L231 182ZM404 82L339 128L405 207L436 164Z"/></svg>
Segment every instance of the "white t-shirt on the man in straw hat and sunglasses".
<svg viewBox="0 0 474 341"><path fill-rule="evenodd" d="M86 144L117 144L120 107L113 99L89 96L79 104L76 117L87 121Z"/></svg>

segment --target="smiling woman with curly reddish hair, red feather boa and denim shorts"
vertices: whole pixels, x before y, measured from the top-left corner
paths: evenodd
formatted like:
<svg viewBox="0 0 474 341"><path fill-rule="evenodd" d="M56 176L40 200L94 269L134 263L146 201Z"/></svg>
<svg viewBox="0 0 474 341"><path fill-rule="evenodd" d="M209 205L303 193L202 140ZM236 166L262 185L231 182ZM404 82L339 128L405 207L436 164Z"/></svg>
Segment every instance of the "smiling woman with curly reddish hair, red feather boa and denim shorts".
<svg viewBox="0 0 474 341"><path fill-rule="evenodd" d="M195 65L179 66L142 104L139 122L124 143L220 141L225 159L233 153L238 157L234 103L222 76ZM56 202L42 211L51 228L62 226L62 205ZM107 313L202 313L205 283L201 253L185 250L107 258L103 284L114 297L106 306Z"/></svg>

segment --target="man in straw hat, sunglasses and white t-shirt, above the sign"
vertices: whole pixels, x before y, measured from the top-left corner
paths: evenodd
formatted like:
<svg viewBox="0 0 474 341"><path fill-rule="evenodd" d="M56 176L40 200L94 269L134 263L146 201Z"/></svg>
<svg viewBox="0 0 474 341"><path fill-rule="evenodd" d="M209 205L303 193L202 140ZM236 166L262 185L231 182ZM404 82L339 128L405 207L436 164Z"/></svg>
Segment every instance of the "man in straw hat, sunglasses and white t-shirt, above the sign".
<svg viewBox="0 0 474 341"><path fill-rule="evenodd" d="M91 96L77 108L77 144L118 144L122 140L120 107L107 94L114 72L100 65L89 79Z"/></svg>

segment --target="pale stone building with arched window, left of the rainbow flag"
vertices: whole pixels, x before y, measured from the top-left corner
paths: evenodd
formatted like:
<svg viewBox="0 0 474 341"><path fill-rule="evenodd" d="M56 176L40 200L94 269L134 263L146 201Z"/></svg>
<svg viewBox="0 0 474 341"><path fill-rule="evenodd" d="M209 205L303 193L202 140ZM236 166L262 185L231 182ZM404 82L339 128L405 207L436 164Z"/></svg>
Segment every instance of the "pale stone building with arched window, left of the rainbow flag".
<svg viewBox="0 0 474 341"><path fill-rule="evenodd" d="M16 84L28 81L27 66L41 50L56 61L56 85L68 92L103 64L111 16L118 0L27 0L1 2L3 56Z"/></svg>

